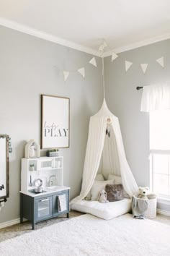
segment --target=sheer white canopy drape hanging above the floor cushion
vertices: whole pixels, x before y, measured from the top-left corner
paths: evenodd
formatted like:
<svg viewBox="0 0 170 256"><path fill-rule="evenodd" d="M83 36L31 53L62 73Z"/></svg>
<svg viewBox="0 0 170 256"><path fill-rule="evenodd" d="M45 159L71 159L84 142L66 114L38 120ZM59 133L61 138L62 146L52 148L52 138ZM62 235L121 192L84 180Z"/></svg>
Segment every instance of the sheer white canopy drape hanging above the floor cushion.
<svg viewBox="0 0 170 256"><path fill-rule="evenodd" d="M104 144L108 118L111 120L112 130L111 136ZM112 132L114 132L113 135ZM125 192L132 197L138 192L138 186L125 157L119 120L109 111L104 99L100 111L90 119L81 193L71 201L71 204L83 200L89 193L94 184L101 158L104 158L106 154L110 166L109 173L122 176ZM105 158L103 163L104 160ZM102 167L102 174L104 174L104 167Z"/></svg>

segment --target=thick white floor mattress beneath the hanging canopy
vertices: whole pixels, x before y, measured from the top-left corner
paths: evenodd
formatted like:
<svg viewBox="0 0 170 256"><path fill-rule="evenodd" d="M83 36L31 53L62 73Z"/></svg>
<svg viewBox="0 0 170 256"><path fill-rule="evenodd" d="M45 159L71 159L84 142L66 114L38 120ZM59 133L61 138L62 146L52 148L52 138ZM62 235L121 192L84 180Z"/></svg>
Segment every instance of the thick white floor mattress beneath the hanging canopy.
<svg viewBox="0 0 170 256"><path fill-rule="evenodd" d="M131 210L131 200L125 198L116 202L101 203L99 201L86 201L71 205L72 210L77 210L81 213L90 213L104 220L110 220L122 214L129 213Z"/></svg>

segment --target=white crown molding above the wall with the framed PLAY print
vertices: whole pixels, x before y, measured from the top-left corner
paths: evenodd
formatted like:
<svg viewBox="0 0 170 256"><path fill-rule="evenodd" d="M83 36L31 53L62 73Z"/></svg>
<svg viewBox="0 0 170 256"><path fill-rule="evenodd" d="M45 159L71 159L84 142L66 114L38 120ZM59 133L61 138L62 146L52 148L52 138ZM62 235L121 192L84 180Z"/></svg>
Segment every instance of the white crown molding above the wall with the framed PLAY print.
<svg viewBox="0 0 170 256"><path fill-rule="evenodd" d="M2 25L4 27L9 27L12 30L17 30L19 32L26 33L28 35L33 35L37 38L42 38L44 40L48 40L53 43L58 43L61 46L66 46L66 47L72 48L74 50L83 51L86 54L92 54L94 56L99 56L99 53L92 48L88 48L86 46L81 46L81 45L79 45L77 43L73 43L69 40L64 40L62 38L58 38L55 35L50 35L41 30L36 30L32 27L27 27L26 25L22 25L18 22L14 22L12 20L7 20L4 17L0 17L0 25Z"/></svg>

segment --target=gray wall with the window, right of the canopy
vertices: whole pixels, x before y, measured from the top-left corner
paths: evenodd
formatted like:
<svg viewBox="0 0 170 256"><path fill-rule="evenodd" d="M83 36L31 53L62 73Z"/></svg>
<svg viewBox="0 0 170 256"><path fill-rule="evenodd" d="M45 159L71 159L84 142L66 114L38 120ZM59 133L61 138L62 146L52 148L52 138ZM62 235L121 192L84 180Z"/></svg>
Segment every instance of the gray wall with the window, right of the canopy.
<svg viewBox="0 0 170 256"><path fill-rule="evenodd" d="M163 69L156 59L164 56ZM125 60L134 64L125 72ZM140 63L148 63L143 74ZM104 59L107 105L119 117L128 163L140 186L149 185L149 115L140 112L142 90L135 88L170 80L170 40ZM170 209L169 209L170 210Z"/></svg>

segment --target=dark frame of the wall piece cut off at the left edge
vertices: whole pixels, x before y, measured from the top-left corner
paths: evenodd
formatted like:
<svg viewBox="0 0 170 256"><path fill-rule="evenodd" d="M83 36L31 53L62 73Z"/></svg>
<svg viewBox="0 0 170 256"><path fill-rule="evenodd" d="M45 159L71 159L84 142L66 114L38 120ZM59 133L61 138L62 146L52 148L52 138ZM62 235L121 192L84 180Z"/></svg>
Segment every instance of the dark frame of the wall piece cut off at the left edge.
<svg viewBox="0 0 170 256"><path fill-rule="evenodd" d="M6 140L6 195L0 197L0 200L9 197L9 135L0 135L1 138Z"/></svg>

